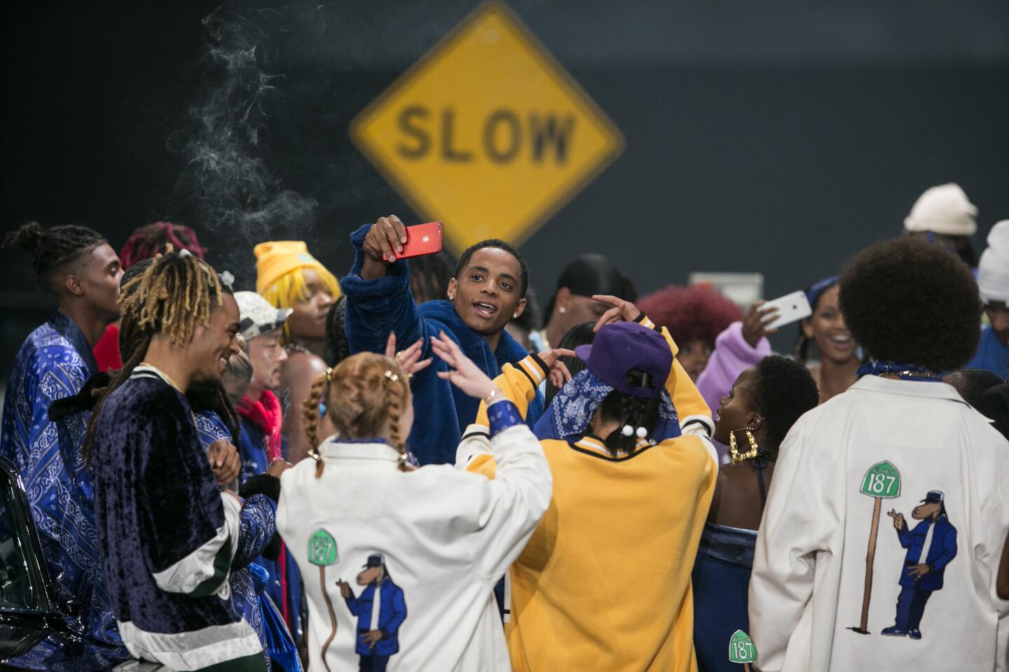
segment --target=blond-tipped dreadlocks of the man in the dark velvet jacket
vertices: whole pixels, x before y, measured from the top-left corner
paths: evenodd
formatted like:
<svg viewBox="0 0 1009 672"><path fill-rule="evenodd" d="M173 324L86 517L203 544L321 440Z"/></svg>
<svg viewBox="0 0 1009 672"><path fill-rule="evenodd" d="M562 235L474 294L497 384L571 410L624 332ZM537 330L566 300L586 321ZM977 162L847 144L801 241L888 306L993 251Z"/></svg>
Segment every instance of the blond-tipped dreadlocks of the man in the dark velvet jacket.
<svg viewBox="0 0 1009 672"><path fill-rule="evenodd" d="M99 393L81 450L86 460L91 461L98 416L105 400L133 375L150 348L150 340L160 333L175 345L188 344L197 324L210 321L210 313L221 304L225 291L229 290L221 284L214 269L185 253L157 257L126 283L119 297L123 315L119 330L123 368ZM220 394L224 394L223 390ZM234 414L228 413L226 421L229 418L234 418Z"/></svg>

